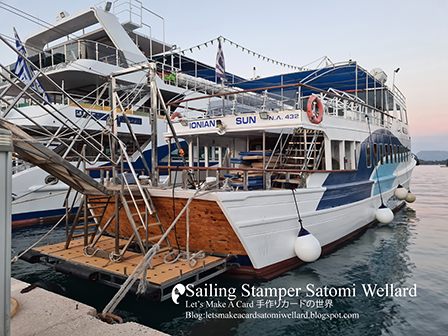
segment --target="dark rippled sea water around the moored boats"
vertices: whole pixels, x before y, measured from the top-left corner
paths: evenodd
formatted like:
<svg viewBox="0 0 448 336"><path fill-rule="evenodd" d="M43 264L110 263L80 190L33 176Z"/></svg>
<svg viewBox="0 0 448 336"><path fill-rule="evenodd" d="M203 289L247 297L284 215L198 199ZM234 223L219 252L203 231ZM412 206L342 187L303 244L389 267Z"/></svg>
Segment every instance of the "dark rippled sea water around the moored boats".
<svg viewBox="0 0 448 336"><path fill-rule="evenodd" d="M314 263L270 281L215 278L187 288L178 304L125 298L115 313L171 335L448 335L448 168L416 167L411 190L416 202L390 224ZM14 230L14 251L48 228ZM58 228L49 240L64 236ZM12 275L57 283L98 311L116 292L24 261Z"/></svg>

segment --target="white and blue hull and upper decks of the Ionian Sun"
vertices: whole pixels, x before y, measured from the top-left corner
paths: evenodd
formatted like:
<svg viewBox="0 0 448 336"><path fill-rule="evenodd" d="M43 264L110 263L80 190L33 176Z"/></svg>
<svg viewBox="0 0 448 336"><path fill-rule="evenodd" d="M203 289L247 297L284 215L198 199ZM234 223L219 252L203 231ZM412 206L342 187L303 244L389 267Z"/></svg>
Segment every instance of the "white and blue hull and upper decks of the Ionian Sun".
<svg viewBox="0 0 448 336"><path fill-rule="evenodd" d="M183 169L196 181L226 178L225 187L191 203L190 248L234 253L241 267L233 272L270 278L301 262L298 219L325 253L374 223L382 205L396 211L413 201L406 102L386 78L350 61L236 84L206 97L221 102L204 115L184 111L174 127L189 145ZM228 157L219 167L193 155L207 156L212 146ZM174 197L182 203L194 192ZM151 195L156 204L172 197L161 189ZM194 234L201 230L205 237Z"/></svg>

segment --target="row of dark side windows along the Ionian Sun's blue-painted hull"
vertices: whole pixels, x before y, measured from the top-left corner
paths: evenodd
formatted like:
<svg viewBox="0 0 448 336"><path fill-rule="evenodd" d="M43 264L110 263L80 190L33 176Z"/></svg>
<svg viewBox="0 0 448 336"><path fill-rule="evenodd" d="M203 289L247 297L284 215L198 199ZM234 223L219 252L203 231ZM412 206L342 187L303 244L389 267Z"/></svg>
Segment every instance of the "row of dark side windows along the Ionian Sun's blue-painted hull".
<svg viewBox="0 0 448 336"><path fill-rule="evenodd" d="M366 161L367 167L372 167L372 164L377 166L385 164L394 164L409 161L411 152L408 148L401 145L389 144L373 144L373 155L371 144L366 144Z"/></svg>

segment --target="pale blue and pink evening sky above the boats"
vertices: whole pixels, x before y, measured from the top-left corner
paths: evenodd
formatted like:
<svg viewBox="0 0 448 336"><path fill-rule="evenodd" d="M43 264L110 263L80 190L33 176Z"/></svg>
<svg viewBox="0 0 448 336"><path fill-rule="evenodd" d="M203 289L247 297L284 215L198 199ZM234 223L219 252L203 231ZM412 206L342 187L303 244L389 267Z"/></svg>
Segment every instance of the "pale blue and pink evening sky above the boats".
<svg viewBox="0 0 448 336"><path fill-rule="evenodd" d="M76 13L95 1L3 1L53 23L59 10ZM279 62L303 66L327 56L333 62L356 60L367 70L382 68L407 98L413 152L448 150L448 1L143 1L164 18L166 41L182 49L220 35ZM16 16L0 3L0 33L22 40L37 23ZM162 19L144 13L152 35L162 40ZM143 31L150 35L149 28ZM15 61L1 46L0 62ZM226 70L243 77L287 73L257 57L223 45ZM187 53L214 65L216 44ZM317 63L311 66L317 66Z"/></svg>

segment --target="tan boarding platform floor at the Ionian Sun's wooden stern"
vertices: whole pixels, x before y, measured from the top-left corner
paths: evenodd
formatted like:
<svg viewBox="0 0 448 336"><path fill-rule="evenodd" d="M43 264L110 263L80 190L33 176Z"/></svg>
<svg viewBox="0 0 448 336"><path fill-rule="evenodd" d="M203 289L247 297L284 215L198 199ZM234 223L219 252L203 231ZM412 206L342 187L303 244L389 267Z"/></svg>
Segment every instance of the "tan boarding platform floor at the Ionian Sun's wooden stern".
<svg viewBox="0 0 448 336"><path fill-rule="evenodd" d="M120 245L126 244L126 240L120 240ZM113 237L101 237L98 243L95 245L97 249L101 249L106 252L113 252L115 246L115 238ZM152 269L147 270L147 280L152 284L152 288L156 288L161 291L160 299L165 300L169 297L171 292L167 292L167 289L171 289L176 283L188 280L194 283L204 282L214 276L217 276L227 270L228 258L216 257L206 255L203 259L197 259L197 263L194 267L190 267L187 261L177 261L173 264L166 264L164 262L165 256L171 251L171 248L163 248L161 251L151 260L153 266ZM37 247L32 250L34 258L38 256L33 262L40 262L44 264L53 263L58 267L58 263L68 263L71 267L72 275L76 276L76 272L79 274L85 274L85 270L88 269L91 272L97 272L99 276L95 276L90 280L101 282L102 278L107 276L110 278L121 278L121 281L116 281L115 284L119 285L124 279L130 275L139 262L142 260L143 255L140 253L127 251L121 262L113 262L109 259L102 258L96 255L91 257L84 254L83 239L73 240L68 249L65 249L65 242L57 243L53 245L45 245ZM51 260L49 263L48 260ZM109 282L110 280L104 281ZM164 293L165 290L165 293Z"/></svg>

